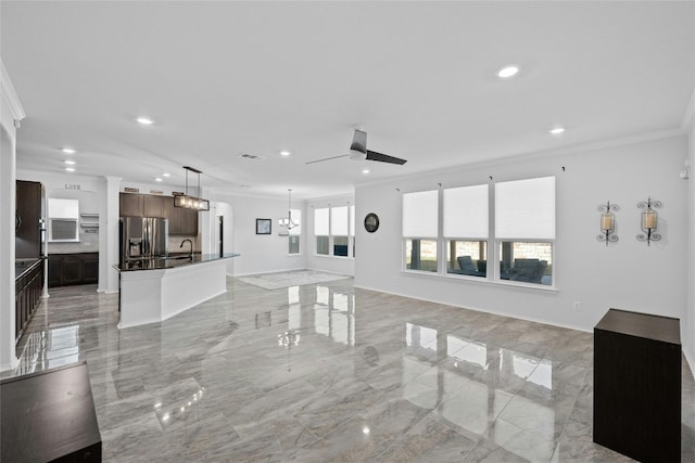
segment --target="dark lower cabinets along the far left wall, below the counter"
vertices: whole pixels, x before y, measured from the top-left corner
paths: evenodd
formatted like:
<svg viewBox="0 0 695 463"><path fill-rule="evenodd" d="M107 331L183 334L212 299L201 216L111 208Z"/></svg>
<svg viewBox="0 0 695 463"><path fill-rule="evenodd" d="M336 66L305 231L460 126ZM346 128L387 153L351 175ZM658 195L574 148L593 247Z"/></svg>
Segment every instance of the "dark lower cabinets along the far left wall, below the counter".
<svg viewBox="0 0 695 463"><path fill-rule="evenodd" d="M14 340L20 340L41 300L43 259L18 259L14 263Z"/></svg>

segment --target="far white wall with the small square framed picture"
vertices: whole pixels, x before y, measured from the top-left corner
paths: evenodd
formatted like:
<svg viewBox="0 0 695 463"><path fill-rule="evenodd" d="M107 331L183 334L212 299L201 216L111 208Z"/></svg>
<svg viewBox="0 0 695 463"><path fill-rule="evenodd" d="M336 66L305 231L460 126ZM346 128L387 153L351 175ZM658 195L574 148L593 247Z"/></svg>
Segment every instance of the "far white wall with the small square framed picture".
<svg viewBox="0 0 695 463"><path fill-rule="evenodd" d="M287 217L287 200L225 194L215 195L211 200L226 203L233 210L232 247L226 247L225 252L241 254L233 258L235 275L306 268L304 241L300 243L302 253L291 256L288 254L288 237L278 235L278 219ZM302 217L306 217L304 204L293 202L292 208L302 209ZM273 233L256 234L256 219L270 219Z"/></svg>

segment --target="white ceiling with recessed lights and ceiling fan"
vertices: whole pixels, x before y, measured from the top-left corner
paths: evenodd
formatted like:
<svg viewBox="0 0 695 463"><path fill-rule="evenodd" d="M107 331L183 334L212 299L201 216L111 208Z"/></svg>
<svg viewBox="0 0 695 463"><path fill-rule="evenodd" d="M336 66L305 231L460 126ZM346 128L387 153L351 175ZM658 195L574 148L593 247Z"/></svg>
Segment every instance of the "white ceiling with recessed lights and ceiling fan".
<svg viewBox="0 0 695 463"><path fill-rule="evenodd" d="M63 172L72 157L76 173L166 171L180 185L188 165L213 192L316 198L677 130L695 82L692 1L2 0L0 21L27 114L17 168ZM497 78L509 63L519 75ZM370 150L408 163L305 165L345 154L357 126Z"/></svg>

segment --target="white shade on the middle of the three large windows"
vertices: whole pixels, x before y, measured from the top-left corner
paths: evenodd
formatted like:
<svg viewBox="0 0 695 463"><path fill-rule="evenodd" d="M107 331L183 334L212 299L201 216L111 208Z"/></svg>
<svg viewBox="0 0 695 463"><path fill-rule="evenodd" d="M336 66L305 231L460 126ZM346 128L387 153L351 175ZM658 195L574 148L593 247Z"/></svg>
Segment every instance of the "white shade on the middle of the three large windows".
<svg viewBox="0 0 695 463"><path fill-rule="evenodd" d="M488 185L444 190L444 237L488 237Z"/></svg>

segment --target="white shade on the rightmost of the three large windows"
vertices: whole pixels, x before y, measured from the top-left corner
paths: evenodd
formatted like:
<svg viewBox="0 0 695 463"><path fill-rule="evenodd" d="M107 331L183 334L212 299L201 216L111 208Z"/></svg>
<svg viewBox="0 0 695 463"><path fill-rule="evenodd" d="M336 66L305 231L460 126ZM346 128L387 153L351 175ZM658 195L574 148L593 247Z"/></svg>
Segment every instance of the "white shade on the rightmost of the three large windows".
<svg viewBox="0 0 695 463"><path fill-rule="evenodd" d="M495 236L555 240L555 177L495 184Z"/></svg>

